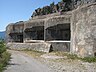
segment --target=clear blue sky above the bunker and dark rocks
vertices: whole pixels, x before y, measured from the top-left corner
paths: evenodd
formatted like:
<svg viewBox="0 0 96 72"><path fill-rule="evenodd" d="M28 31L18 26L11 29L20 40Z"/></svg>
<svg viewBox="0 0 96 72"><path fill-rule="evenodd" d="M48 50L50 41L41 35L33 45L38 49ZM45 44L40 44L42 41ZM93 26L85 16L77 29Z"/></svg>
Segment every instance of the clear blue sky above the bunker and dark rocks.
<svg viewBox="0 0 96 72"><path fill-rule="evenodd" d="M0 0L0 31L9 23L28 20L39 7L61 0Z"/></svg>

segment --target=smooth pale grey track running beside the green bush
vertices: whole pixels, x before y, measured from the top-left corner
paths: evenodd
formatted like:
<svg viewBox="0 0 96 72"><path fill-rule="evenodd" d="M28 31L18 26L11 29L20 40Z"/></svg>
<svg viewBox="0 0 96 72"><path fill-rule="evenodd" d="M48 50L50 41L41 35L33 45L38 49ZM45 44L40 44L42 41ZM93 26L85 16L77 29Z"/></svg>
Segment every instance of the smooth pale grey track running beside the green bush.
<svg viewBox="0 0 96 72"><path fill-rule="evenodd" d="M46 65L19 51L9 51L11 60L4 72L53 72Z"/></svg>

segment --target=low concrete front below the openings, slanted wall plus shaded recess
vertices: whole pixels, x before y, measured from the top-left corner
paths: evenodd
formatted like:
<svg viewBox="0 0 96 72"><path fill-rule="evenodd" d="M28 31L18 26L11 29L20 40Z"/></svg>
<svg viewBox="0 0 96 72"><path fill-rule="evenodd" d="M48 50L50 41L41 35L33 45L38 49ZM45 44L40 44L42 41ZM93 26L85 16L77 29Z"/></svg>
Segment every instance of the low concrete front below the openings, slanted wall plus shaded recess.
<svg viewBox="0 0 96 72"><path fill-rule="evenodd" d="M6 46L13 50L35 50L40 52L70 51L70 42L37 42L37 43L7 43Z"/></svg>

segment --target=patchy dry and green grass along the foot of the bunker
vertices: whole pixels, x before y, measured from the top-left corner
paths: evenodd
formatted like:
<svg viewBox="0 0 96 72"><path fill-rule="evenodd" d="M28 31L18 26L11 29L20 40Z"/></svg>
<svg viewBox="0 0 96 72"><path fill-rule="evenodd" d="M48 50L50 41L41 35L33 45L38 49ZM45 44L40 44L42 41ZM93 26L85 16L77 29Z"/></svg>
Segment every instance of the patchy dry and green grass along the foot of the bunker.
<svg viewBox="0 0 96 72"><path fill-rule="evenodd" d="M38 52L38 51L28 51L28 50L24 50L24 53L34 57L34 58L41 58L40 56L43 54L46 54L44 52ZM70 54L68 52L61 52L61 51L56 51L56 52L51 52L48 53L50 55L57 55L57 56L62 56L64 58L62 59L54 59L53 61L57 61L57 62L63 62L63 61L68 61L68 62L74 62L74 61L85 61L85 62L96 62L96 57L85 57L85 58L79 58L77 55L74 54Z"/></svg>

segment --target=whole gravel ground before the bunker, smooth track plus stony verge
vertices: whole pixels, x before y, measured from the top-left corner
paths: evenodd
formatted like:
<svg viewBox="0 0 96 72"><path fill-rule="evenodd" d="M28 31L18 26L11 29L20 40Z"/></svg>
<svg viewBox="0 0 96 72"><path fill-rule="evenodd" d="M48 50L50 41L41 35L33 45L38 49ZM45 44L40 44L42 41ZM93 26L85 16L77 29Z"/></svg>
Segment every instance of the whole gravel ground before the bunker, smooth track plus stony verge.
<svg viewBox="0 0 96 72"><path fill-rule="evenodd" d="M96 63L80 60L57 59L57 56L44 54L45 58L33 58L24 52L9 51L12 59L4 72L96 72ZM46 58L47 57L47 58ZM55 57L55 58L53 58Z"/></svg>

